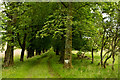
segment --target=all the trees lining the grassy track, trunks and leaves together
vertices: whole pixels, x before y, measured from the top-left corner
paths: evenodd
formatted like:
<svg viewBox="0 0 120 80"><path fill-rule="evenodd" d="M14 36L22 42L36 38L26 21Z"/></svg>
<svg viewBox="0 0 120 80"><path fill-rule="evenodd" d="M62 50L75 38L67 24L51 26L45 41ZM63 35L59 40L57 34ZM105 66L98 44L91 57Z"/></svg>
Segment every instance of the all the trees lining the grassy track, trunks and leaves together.
<svg viewBox="0 0 120 80"><path fill-rule="evenodd" d="M3 66L14 64L14 48L21 48L20 61L41 55L53 47L64 68L73 68L72 50L100 51L106 68L120 52L120 2L3 2L2 46L7 42ZM103 51L106 51L103 54ZM36 54L34 52L36 51Z"/></svg>

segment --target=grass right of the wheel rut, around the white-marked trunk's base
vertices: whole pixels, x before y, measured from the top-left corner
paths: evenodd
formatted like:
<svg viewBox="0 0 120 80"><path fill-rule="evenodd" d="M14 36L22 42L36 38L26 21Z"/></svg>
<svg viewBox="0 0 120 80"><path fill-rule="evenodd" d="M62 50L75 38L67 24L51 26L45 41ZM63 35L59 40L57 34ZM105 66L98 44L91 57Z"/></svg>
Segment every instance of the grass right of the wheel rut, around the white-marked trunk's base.
<svg viewBox="0 0 120 80"><path fill-rule="evenodd" d="M91 56L87 53L87 56ZM99 55L95 55L94 64L91 64L87 59L76 59L76 55L73 55L73 69L64 69L63 64L59 64L59 56L53 54L51 59L52 69L59 73L62 78L118 78L118 57L115 61L115 70L111 69L111 65L108 65L106 69L97 66L100 61ZM111 64L111 60L108 63Z"/></svg>

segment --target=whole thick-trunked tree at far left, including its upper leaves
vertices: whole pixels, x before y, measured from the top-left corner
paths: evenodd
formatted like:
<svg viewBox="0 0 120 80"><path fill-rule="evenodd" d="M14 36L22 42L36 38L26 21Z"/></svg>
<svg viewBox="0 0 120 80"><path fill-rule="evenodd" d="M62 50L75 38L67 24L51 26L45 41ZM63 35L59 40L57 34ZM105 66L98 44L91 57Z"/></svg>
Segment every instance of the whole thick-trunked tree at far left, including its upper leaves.
<svg viewBox="0 0 120 80"><path fill-rule="evenodd" d="M14 60L13 60L13 55L14 55L14 30L12 29L13 26L16 25L16 11L14 10L13 14L11 9L15 7L15 3L4 3L5 5L5 10L3 11L6 14L4 23L6 24L6 27L4 25L4 28L6 30L6 41L7 41L7 49L5 51L5 58L4 58L4 67L13 65Z"/></svg>

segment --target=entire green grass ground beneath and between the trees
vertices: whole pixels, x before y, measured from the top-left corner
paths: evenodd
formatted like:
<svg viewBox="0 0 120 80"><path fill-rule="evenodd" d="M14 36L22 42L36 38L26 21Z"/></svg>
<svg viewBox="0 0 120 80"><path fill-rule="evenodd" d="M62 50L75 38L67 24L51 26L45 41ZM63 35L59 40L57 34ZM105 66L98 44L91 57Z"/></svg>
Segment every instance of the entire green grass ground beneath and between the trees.
<svg viewBox="0 0 120 80"><path fill-rule="evenodd" d="M90 53L86 54L90 56ZM52 58L49 58L52 56ZM19 57L15 58L14 66L3 68L3 78L117 78L118 77L118 58L116 56L115 70L112 71L111 65L106 69L97 66L100 61L99 55L96 53L95 61L91 64L87 59L76 59L73 55L73 69L64 69L63 64L58 62L59 55L55 55L53 51L49 51L41 56L35 56L26 59L24 62L19 61ZM111 64L110 59L108 61ZM48 65L48 61L50 66ZM49 68L50 67L50 68ZM52 70L50 70L52 69ZM52 72L51 72L52 71Z"/></svg>

